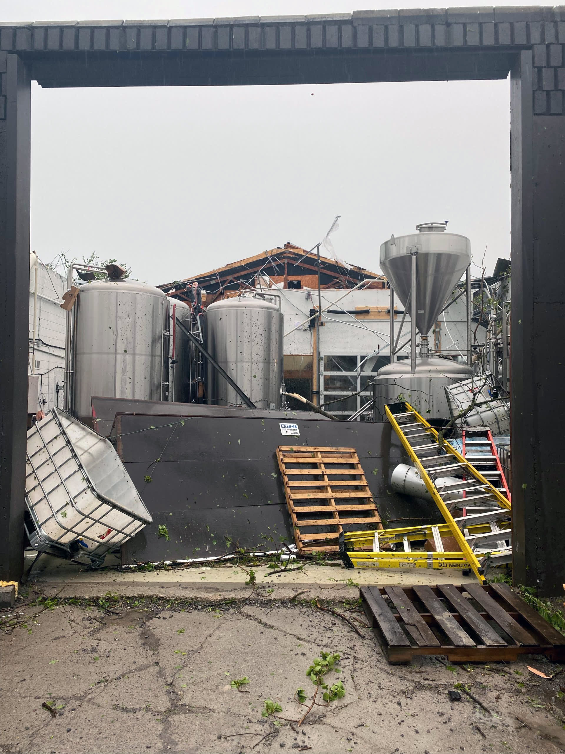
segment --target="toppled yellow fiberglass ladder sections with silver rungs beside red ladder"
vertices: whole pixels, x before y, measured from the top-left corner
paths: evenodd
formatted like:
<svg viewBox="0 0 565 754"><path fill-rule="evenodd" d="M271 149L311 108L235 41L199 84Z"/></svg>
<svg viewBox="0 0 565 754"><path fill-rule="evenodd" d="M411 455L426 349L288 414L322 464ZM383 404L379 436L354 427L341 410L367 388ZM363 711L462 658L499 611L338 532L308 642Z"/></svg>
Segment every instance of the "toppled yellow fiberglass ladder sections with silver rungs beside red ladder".
<svg viewBox="0 0 565 754"><path fill-rule="evenodd" d="M386 415L445 523L380 532L348 532L341 536L340 542L345 565L472 569L479 581L484 582L490 566L512 559L508 498L440 438L409 403L386 406ZM457 550L452 546L450 549L455 551L446 551L442 537L453 538L451 542L455 541ZM422 540L428 541L430 551L412 550L411 543ZM397 547L402 547L403 552L393 551Z"/></svg>

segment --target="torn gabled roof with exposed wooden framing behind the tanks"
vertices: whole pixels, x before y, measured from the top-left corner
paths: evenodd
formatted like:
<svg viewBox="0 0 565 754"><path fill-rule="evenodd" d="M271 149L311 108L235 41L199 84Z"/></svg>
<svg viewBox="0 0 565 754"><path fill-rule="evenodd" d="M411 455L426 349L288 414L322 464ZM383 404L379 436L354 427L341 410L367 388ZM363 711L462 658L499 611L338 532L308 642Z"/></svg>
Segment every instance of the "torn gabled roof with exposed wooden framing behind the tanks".
<svg viewBox="0 0 565 754"><path fill-rule="evenodd" d="M165 293L182 299L185 298L182 284L197 282L200 287L206 290L206 304L210 304L216 299L226 296L226 294L233 295L249 286L255 288L252 280L258 275L269 277L274 283L283 283L285 287L288 280L315 277L317 285L317 265L316 252L307 252L301 247L286 243L284 247L270 249L261 254L249 256L247 259L231 262L224 267L193 275L184 280L162 284L159 287ZM365 270L365 268L356 265L345 267L334 259L320 256L320 284L322 288L348 289L355 287L362 280L375 280L375 283L370 284L369 287L386 287L386 277L382 274ZM306 287L314 287L307 285L307 282L307 280L304 280Z"/></svg>

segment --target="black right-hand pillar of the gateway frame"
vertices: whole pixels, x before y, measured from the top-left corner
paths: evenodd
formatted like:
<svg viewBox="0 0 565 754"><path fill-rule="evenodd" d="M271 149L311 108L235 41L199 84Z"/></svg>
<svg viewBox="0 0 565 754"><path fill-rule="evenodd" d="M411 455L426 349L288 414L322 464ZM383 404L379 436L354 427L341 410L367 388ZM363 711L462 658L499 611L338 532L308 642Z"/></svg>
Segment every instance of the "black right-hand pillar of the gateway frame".
<svg viewBox="0 0 565 754"><path fill-rule="evenodd" d="M565 358L556 347L565 340L565 117L536 115L547 92L533 92L533 71L522 51L511 77L513 562L516 583L551 596L565 582Z"/></svg>

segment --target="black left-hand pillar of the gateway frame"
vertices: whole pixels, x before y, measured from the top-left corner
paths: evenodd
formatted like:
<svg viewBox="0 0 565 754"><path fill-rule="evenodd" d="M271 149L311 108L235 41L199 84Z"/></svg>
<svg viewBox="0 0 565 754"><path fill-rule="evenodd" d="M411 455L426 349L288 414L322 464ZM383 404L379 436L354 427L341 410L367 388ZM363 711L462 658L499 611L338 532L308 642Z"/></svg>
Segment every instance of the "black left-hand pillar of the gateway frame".
<svg viewBox="0 0 565 754"><path fill-rule="evenodd" d="M29 338L30 81L0 52L0 579L23 571Z"/></svg>

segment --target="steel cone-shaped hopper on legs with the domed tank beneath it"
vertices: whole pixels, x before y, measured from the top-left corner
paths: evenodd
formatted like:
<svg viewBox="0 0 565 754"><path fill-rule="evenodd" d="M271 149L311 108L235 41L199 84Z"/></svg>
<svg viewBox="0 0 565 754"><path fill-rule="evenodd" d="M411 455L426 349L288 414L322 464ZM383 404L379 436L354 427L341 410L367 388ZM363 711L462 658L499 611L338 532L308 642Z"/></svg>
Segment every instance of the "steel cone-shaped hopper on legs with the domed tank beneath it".
<svg viewBox="0 0 565 754"><path fill-rule="evenodd" d="M426 418L449 418L444 385L461 382L472 376L467 364L429 354L428 334L451 291L471 262L469 238L445 232L444 222L417 225L417 233L392 236L380 247L380 267L411 316L411 358L395 361L393 306L391 305L391 363L377 373L375 396L377 412L385 415L384 406L395 400L408 400ZM470 277L467 274L467 296ZM469 341L469 300L467 337ZM401 325L402 326L402 325ZM420 357L416 352L420 333ZM396 336L398 344L399 334ZM470 354L470 342L467 344Z"/></svg>

